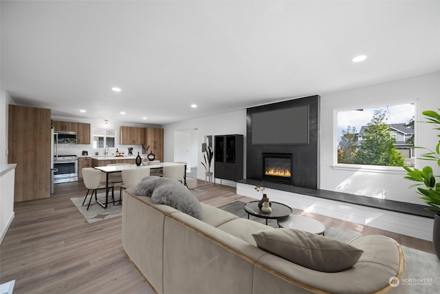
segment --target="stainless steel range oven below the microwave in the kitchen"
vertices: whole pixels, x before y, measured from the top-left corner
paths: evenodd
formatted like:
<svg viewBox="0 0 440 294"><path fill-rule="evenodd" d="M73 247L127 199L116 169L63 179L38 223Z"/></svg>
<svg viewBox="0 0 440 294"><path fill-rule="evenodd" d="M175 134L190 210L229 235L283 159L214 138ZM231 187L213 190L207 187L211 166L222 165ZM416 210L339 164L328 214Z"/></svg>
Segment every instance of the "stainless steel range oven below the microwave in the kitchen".
<svg viewBox="0 0 440 294"><path fill-rule="evenodd" d="M78 182L78 156L55 156L54 184L60 182Z"/></svg>

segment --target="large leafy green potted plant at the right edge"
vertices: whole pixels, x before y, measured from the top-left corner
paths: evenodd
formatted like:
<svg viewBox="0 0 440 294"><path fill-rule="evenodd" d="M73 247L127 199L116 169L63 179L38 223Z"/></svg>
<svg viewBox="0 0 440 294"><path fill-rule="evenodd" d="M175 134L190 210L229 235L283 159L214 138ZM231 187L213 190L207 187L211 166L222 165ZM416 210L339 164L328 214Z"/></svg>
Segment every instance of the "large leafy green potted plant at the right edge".
<svg viewBox="0 0 440 294"><path fill-rule="evenodd" d="M440 110L440 109L439 109ZM440 114L432 110L426 110L422 112L423 116L427 119L424 123L432 123L434 129L440 130ZM440 134L437 135L440 137ZM435 147L435 151L425 147L417 147L422 149L427 149L429 152L421 154L421 159L423 160L434 160L440 167L440 140ZM409 167L404 167L407 172L405 177L408 180L416 181L417 184L411 185L411 187L417 187L417 193L421 196L419 197L423 200L429 207L426 207L428 211L434 213L434 228L432 229L432 246L434 246L434 251L437 257L440 258L440 182L436 182L435 178L439 176L434 176L432 167L426 166L423 169L410 169Z"/></svg>

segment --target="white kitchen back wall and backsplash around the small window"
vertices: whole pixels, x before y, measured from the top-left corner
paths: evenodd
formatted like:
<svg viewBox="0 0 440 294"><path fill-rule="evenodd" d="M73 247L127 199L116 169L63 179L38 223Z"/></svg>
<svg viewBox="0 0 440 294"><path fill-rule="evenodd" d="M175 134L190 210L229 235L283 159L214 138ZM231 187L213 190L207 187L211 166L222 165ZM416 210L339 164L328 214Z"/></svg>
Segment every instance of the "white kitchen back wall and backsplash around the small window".
<svg viewBox="0 0 440 294"><path fill-rule="evenodd" d="M144 124L135 124L135 123L123 123L120 121L111 121L105 125L105 121L103 119L90 119L90 118L70 118L64 116L52 116L52 120L61 120L61 121L72 121L76 123L90 123L90 144L61 144L58 145L58 154L61 155L78 155L82 154L83 150L87 150L89 152L89 156L94 156L96 152L100 156L104 155L104 148L93 149L93 130L94 129L115 129L116 130L116 138L115 138L115 147L109 149L109 155L115 154L116 149L121 152L125 152L125 155L129 153L128 148L133 147L133 154L137 155L137 152L142 154L142 145L120 145L120 133L119 127L162 127L160 125L144 125Z"/></svg>

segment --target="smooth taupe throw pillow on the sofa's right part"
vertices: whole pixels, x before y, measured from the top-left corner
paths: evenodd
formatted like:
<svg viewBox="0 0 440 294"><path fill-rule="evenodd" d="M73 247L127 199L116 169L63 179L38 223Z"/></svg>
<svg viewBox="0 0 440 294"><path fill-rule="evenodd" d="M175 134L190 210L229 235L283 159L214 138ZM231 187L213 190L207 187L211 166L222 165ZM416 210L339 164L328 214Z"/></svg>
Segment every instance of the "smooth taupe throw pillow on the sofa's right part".
<svg viewBox="0 0 440 294"><path fill-rule="evenodd" d="M351 268L364 253L350 244L289 228L259 231L252 236L261 249L326 273Z"/></svg>

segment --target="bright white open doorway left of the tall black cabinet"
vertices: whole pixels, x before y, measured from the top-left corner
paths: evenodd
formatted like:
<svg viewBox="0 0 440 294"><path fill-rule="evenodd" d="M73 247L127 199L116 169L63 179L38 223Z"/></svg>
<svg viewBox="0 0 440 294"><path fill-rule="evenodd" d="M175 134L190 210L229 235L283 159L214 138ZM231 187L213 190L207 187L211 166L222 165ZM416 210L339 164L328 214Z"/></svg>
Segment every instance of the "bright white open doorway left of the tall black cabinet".
<svg viewBox="0 0 440 294"><path fill-rule="evenodd" d="M186 162L186 176L197 178L197 129L182 129L174 132L174 161Z"/></svg>

